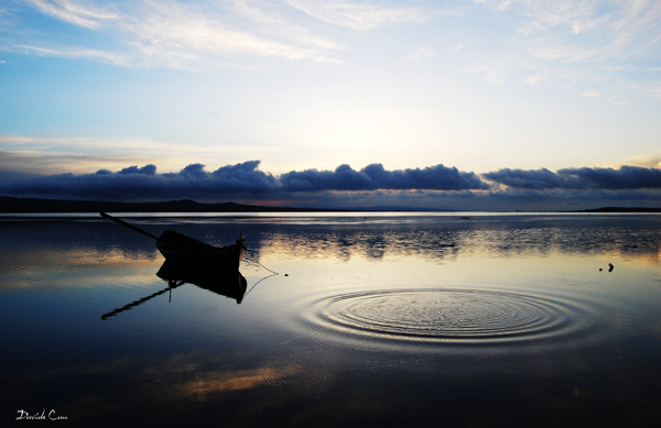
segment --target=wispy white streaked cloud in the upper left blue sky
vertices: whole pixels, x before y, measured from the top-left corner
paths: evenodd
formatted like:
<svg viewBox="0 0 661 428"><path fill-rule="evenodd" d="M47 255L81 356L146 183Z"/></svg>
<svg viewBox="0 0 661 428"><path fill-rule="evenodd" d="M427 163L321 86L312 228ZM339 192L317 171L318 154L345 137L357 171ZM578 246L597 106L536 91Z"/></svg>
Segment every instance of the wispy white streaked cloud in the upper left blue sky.
<svg viewBox="0 0 661 428"><path fill-rule="evenodd" d="M410 3L339 0L26 1L74 28L100 32L106 43L96 37L97 44L89 45L93 42L86 37L77 37L78 46L65 45L63 39L41 28L30 39L14 36L6 50L186 69L236 66L249 57L342 63L338 53L349 47L339 41L337 29L321 30L324 22L370 30L421 24L451 13Z"/></svg>

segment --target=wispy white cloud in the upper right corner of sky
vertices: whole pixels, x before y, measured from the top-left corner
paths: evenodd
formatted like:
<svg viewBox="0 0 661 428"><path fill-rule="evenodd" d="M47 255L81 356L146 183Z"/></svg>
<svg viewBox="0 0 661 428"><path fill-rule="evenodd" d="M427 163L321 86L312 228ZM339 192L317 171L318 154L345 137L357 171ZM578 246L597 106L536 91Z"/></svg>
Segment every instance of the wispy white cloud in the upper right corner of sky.
<svg viewBox="0 0 661 428"><path fill-rule="evenodd" d="M599 80L615 91L630 90L626 74L661 61L661 2L654 0L475 0L511 22L491 48L466 69L502 84L544 72L545 86L583 90ZM507 20L507 21L506 21ZM480 46L486 46L484 41ZM474 53L477 54L477 53ZM539 76L533 73L532 76ZM539 83L532 76L520 81ZM571 76L571 78L568 78ZM519 78L519 77L518 77ZM532 80L531 80L532 78ZM638 85L646 92L644 83ZM627 88L627 89L625 89ZM617 94L613 97L621 98Z"/></svg>

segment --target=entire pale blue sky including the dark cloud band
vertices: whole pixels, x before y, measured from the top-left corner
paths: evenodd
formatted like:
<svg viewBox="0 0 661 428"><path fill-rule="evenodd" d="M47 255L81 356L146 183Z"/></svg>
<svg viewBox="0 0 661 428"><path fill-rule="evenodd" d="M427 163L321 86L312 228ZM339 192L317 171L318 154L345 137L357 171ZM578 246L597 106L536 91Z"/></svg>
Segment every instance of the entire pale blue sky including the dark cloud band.
<svg viewBox="0 0 661 428"><path fill-rule="evenodd" d="M2 0L0 196L661 207L658 0Z"/></svg>

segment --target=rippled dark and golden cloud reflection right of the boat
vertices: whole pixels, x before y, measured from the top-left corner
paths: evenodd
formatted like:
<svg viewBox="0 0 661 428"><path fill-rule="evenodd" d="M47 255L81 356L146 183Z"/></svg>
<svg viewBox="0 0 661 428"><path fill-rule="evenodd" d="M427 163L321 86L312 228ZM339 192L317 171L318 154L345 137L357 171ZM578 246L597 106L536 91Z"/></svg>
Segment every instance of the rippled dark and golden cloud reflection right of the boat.
<svg viewBox="0 0 661 428"><path fill-rule="evenodd" d="M416 257L452 262L460 256L617 253L658 264L661 235L653 229L639 233L639 227L648 230L653 224L653 219L649 221L615 218L595 223L588 216L531 216L525 220L516 216L441 217L416 219L409 231L402 231L390 230L387 219L366 218L327 231L314 227L310 231L272 233L256 244L259 253L304 260Z"/></svg>

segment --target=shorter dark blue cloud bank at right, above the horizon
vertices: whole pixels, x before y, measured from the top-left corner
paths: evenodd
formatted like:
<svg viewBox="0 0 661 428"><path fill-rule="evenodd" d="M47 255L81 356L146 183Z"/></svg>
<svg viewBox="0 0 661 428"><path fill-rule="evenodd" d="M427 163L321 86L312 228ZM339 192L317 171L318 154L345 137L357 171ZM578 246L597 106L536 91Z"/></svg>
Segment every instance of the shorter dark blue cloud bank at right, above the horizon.
<svg viewBox="0 0 661 428"><path fill-rule="evenodd" d="M661 188L661 169L639 166L613 168L499 169L484 177L514 189L631 190Z"/></svg>

